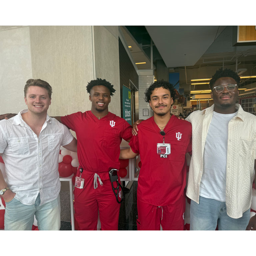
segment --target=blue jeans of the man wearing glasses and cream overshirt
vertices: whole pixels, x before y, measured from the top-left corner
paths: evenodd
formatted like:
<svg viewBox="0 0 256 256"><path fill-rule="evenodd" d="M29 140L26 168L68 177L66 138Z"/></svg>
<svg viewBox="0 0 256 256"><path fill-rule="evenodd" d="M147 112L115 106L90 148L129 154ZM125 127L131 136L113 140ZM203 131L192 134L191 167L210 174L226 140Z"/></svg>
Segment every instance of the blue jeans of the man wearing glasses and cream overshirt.
<svg viewBox="0 0 256 256"><path fill-rule="evenodd" d="M250 219L250 209L238 219L227 215L226 203L199 196L199 204L191 200L190 230L245 230Z"/></svg>

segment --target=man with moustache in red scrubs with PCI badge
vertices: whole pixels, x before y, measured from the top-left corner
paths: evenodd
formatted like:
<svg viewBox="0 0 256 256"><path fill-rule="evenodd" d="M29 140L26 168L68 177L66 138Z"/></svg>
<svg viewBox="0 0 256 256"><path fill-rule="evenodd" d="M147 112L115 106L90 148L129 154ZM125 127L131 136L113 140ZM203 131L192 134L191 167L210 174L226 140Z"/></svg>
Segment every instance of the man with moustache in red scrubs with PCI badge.
<svg viewBox="0 0 256 256"><path fill-rule="evenodd" d="M184 230L186 185L185 154L192 151L189 122L170 115L175 92L165 81L153 83L145 92L154 116L140 123L130 148L120 159L140 154L138 178L138 230Z"/></svg>

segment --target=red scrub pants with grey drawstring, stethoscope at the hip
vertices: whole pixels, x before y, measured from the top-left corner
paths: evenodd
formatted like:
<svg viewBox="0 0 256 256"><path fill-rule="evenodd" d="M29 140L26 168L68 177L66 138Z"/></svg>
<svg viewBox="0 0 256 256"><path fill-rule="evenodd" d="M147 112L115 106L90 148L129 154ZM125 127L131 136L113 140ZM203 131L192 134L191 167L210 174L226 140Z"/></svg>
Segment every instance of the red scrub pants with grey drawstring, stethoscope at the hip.
<svg viewBox="0 0 256 256"><path fill-rule="evenodd" d="M97 230L98 209L101 230L118 230L120 204L117 203L112 190L108 172L101 172L98 175L102 186L97 178L98 187L94 189L94 173L84 170L81 176L84 178L84 188L74 189L75 218L79 230ZM77 176L80 176L79 169ZM120 182L120 178L118 180ZM117 187L116 183L114 182L114 187Z"/></svg>

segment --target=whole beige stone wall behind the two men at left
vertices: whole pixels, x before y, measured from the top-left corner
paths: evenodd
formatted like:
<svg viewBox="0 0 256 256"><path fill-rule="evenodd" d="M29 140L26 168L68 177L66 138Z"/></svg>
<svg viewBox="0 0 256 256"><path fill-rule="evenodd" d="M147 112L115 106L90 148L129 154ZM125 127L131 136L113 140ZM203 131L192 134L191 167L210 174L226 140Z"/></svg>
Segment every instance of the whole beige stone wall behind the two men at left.
<svg viewBox="0 0 256 256"><path fill-rule="evenodd" d="M120 115L118 26L0 27L0 56L0 113L26 108L29 78L52 86L50 115L90 110L86 85L99 77L114 84L109 110Z"/></svg>

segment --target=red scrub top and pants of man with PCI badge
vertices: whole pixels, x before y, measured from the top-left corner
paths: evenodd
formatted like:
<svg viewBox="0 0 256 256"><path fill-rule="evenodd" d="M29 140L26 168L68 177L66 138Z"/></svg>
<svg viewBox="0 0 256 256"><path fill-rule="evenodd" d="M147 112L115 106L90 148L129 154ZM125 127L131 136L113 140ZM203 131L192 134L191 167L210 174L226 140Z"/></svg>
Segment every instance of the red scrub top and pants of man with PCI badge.
<svg viewBox="0 0 256 256"><path fill-rule="evenodd" d="M139 125L137 136L129 143L140 154L138 178L138 230L184 230L186 185L185 154L192 150L190 122L171 116L164 128L165 143L171 144L171 154L161 158L157 143L163 143L160 129L151 117Z"/></svg>

